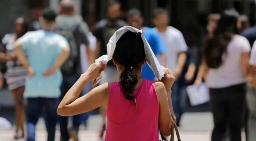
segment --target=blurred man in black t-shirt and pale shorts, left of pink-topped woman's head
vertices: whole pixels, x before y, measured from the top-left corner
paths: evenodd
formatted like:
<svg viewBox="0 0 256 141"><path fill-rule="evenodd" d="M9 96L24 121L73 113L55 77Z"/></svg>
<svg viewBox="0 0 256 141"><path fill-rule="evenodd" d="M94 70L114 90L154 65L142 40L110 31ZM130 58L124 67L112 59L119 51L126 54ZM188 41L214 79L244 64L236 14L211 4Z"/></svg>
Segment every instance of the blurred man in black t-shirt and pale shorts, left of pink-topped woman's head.
<svg viewBox="0 0 256 141"><path fill-rule="evenodd" d="M107 54L107 43L109 42L110 37L114 34L114 32L121 27L123 27L126 23L125 21L119 19L120 17L120 8L121 4L118 1L110 0L106 5L106 16L107 18L100 20L96 23L93 35L97 38L97 45L95 49L95 57L98 58L102 55ZM102 80L100 84L105 82L115 82L118 81L119 74L116 70L112 61L109 61L107 69L104 71ZM99 136L102 138L103 133L106 130L106 109L104 107L100 107L100 114L102 115L102 130L100 131Z"/></svg>

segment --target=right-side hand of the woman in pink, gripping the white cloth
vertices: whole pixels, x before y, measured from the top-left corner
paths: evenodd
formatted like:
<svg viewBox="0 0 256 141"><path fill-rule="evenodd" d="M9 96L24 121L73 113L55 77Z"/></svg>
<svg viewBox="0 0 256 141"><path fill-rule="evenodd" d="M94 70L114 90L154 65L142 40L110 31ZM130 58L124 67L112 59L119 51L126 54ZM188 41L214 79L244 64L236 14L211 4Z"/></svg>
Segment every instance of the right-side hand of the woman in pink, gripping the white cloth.
<svg viewBox="0 0 256 141"><path fill-rule="evenodd" d="M166 89L171 89L171 87L173 86L173 83L175 81L175 77L174 77L173 73L171 72L171 70L169 70L168 68L165 68L163 66L162 66L162 68L164 71L164 77L161 79L161 82L163 82Z"/></svg>

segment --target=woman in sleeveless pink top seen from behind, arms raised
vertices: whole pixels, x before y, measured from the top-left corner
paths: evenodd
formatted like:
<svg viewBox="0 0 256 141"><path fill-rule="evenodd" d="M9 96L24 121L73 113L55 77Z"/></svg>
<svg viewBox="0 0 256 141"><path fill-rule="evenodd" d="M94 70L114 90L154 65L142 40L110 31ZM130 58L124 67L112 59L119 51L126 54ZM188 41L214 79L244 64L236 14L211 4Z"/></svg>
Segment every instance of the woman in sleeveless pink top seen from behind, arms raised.
<svg viewBox="0 0 256 141"><path fill-rule="evenodd" d="M108 122L105 141L159 141L158 129L169 136L174 116L168 103L175 80L171 71L163 68L165 75L161 82L143 79L144 44L141 35L131 31L117 41L113 62L120 73L120 82L102 84L78 98L86 83L106 68L102 62L91 64L67 92L57 113L71 116L105 106Z"/></svg>

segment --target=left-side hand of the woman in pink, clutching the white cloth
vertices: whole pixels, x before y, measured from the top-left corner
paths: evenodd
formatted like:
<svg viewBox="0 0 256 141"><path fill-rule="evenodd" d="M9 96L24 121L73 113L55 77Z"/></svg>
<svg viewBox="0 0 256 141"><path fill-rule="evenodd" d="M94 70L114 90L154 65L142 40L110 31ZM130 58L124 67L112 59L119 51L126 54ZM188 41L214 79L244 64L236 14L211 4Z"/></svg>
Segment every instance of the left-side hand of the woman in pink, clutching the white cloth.
<svg viewBox="0 0 256 141"><path fill-rule="evenodd" d="M106 64L103 64L101 61L99 63L93 63L89 66L89 68L85 71L85 75L90 79L96 79L100 76L100 73L107 67Z"/></svg>

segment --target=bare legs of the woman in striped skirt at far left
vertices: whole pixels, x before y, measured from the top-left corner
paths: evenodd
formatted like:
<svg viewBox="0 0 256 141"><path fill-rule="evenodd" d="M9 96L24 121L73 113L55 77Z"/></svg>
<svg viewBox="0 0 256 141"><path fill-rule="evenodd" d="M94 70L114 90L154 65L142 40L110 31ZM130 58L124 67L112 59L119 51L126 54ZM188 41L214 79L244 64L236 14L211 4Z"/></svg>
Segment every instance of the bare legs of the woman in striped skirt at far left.
<svg viewBox="0 0 256 141"><path fill-rule="evenodd" d="M24 107L24 97L23 97L23 93L24 93L24 87L19 87L17 89L14 89L11 91L12 96L13 96L13 100L15 103L15 122L16 122L16 132L14 135L14 138L18 138L19 135L19 131L22 132L22 137L25 136L25 131L24 131L24 118L25 118L25 107Z"/></svg>

